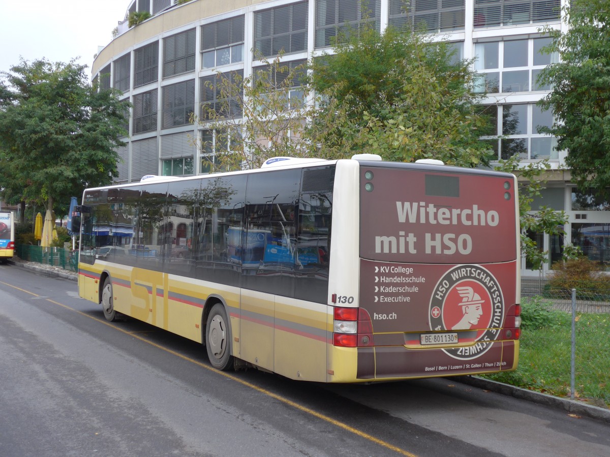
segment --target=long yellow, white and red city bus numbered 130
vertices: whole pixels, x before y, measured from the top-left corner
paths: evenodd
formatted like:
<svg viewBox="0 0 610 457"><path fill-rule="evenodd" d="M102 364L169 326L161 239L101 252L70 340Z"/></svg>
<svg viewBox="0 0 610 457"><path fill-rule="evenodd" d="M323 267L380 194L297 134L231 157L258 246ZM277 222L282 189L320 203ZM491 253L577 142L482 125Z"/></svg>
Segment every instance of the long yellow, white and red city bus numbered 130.
<svg viewBox="0 0 610 457"><path fill-rule="evenodd" d="M512 174L351 159L84 191L79 295L217 369L359 383L514 370Z"/></svg>

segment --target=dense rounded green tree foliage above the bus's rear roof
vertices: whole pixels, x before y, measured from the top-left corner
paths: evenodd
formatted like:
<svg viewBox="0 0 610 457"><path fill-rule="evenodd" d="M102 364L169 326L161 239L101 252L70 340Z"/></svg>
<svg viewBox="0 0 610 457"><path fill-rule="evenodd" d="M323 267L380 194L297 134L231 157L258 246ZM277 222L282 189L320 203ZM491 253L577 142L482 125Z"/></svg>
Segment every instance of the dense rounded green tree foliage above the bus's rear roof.
<svg viewBox="0 0 610 457"><path fill-rule="evenodd" d="M492 132L476 105L481 96L472 92L472 62L458 62L447 43L413 30L390 27L380 34L365 26L333 51L311 63L312 85L328 102L313 125L335 126L318 138L322 149L336 157L374 151L386 160L489 164L489 148L479 137ZM337 113L348 113L347 122Z"/></svg>

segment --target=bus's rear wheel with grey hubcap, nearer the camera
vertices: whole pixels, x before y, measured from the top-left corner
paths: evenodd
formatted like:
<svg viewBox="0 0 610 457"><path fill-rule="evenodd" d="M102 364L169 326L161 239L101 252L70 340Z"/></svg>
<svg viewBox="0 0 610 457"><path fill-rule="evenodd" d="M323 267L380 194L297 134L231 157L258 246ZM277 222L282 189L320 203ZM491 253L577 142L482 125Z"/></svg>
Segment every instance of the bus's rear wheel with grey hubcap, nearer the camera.
<svg viewBox="0 0 610 457"><path fill-rule="evenodd" d="M222 303L212 306L207 316L206 349L207 357L214 368L226 370L232 366L231 329Z"/></svg>

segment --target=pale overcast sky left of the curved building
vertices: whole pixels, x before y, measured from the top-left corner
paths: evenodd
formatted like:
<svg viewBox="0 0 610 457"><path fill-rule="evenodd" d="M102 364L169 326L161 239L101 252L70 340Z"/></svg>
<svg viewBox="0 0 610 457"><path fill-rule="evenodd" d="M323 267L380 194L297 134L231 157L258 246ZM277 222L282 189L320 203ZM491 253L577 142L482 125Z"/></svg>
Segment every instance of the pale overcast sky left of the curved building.
<svg viewBox="0 0 610 457"><path fill-rule="evenodd" d="M87 65L112 40L129 0L0 0L0 71L20 58Z"/></svg>

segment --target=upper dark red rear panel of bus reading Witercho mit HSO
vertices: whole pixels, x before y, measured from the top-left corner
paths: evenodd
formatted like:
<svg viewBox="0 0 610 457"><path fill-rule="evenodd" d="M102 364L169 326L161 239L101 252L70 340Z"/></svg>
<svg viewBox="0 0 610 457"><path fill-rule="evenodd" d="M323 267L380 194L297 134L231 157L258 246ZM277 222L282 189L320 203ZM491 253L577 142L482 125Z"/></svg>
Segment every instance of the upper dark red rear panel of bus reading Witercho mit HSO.
<svg viewBox="0 0 610 457"><path fill-rule="evenodd" d="M360 255L408 263L515 260L513 187L504 174L362 166Z"/></svg>

